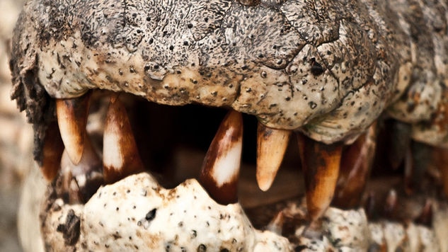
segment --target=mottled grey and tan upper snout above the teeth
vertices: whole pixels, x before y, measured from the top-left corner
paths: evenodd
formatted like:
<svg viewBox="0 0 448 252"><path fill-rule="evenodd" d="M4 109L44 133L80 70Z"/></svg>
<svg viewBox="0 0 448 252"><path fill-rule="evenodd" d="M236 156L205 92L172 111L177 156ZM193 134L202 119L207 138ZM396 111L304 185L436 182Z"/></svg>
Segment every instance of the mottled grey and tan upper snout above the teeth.
<svg viewBox="0 0 448 252"><path fill-rule="evenodd" d="M30 1L13 39L12 98L38 150L54 120L50 97L89 88L231 107L350 142L403 93L394 118L427 124L438 111L447 4L436 2Z"/></svg>

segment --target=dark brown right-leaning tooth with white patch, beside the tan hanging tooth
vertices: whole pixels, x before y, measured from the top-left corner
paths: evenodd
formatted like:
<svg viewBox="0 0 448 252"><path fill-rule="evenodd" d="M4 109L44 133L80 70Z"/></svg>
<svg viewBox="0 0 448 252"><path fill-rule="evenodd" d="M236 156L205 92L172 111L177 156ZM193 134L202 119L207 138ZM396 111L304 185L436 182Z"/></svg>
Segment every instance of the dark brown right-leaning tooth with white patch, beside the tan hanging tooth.
<svg viewBox="0 0 448 252"><path fill-rule="evenodd" d="M243 118L231 110L222 121L205 155L199 181L222 205L235 203L243 146Z"/></svg>

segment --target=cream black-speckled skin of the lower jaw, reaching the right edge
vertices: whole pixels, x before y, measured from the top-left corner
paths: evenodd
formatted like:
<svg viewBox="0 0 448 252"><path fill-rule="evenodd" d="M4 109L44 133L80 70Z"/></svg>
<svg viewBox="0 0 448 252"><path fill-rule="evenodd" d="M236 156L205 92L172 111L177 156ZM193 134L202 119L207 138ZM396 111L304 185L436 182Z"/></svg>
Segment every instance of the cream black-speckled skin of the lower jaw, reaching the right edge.
<svg viewBox="0 0 448 252"><path fill-rule="evenodd" d="M448 211L434 202L432 228L413 222L374 222L362 208L329 207L317 236L299 225L288 241L254 229L241 205L219 205L196 180L161 187L139 173L101 187L85 205L49 190L41 212L46 251L447 251ZM306 212L288 204L284 213Z"/></svg>

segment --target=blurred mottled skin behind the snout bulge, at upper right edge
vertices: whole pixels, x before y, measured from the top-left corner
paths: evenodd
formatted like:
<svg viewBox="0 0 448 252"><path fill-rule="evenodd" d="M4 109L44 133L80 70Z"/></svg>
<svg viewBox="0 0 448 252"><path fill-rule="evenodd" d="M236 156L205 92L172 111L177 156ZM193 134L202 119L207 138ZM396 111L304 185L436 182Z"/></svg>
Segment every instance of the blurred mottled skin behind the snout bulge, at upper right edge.
<svg viewBox="0 0 448 252"><path fill-rule="evenodd" d="M412 52L410 85L390 114L413 139L448 147L448 1L394 1Z"/></svg>

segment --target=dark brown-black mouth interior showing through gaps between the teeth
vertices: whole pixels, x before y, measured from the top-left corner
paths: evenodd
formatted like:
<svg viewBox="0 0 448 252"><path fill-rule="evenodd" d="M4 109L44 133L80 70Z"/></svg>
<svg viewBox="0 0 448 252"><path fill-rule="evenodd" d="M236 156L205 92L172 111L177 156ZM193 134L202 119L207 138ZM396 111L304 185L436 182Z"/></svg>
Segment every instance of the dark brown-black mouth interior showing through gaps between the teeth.
<svg viewBox="0 0 448 252"><path fill-rule="evenodd" d="M91 99L90 118L94 114L101 114L108 106L109 91L94 91ZM143 98L121 93L120 100L127 108L132 130L134 132L139 154L145 168L165 188L174 188L187 178L197 178L200 174L202 161L209 144L217 132L219 124L229 109L209 108L203 105L168 106L150 103ZM101 118L101 117L100 117ZM100 119L102 120L102 119ZM386 121L383 129L390 127L393 121ZM257 125L258 121L253 115L243 115L243 154L239 176L239 202L246 210L254 227L265 227L272 217L285 207L288 200L300 202L304 196L304 179L301 175L299 148L296 137L291 137L282 166L275 178L272 187L267 192L258 188L255 180ZM103 149L103 132L101 128L88 132L98 153ZM394 189L398 195L403 192L403 162L395 169L387 165L387 156L390 136L386 130L380 133L377 143L377 157L372 167L372 176L369 178L362 205L367 204L369 195L376 198L374 214L371 219L406 219L406 216L415 216L415 212L425 205L425 195L410 195L406 202L398 202L401 209L409 209L410 213L389 214L384 213L383 202L389 190ZM393 137L392 137L393 138ZM432 186L430 191L434 191ZM438 190L442 191L442 190ZM401 196L400 196L401 197ZM403 197L402 197L403 198ZM409 207L409 204L412 207ZM416 207L415 207L416 206ZM379 209L379 210L378 210ZM403 217L404 216L404 217ZM303 224L305 217L285 221L284 234L294 233L297 224ZM298 223L299 222L299 223Z"/></svg>

